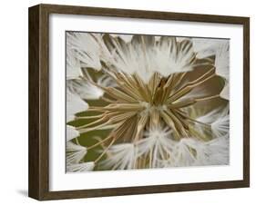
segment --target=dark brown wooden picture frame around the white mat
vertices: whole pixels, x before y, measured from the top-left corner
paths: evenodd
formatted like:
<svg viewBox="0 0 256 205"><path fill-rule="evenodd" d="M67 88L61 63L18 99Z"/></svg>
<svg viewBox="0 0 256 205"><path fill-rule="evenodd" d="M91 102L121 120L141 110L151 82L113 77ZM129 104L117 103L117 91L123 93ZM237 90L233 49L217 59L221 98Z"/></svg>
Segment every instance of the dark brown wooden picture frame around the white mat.
<svg viewBox="0 0 256 205"><path fill-rule="evenodd" d="M49 15L99 15L141 19L241 24L243 26L243 180L94 190L49 190ZM29 8L29 181L28 195L59 200L146 194L184 190L214 190L250 186L250 19L224 15L192 15L69 5Z"/></svg>

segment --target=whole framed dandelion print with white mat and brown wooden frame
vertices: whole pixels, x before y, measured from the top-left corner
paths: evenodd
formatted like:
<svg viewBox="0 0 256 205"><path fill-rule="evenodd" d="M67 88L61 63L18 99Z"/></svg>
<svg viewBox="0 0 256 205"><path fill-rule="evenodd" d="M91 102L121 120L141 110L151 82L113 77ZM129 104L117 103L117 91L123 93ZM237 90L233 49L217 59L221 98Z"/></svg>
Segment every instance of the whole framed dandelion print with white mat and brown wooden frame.
<svg viewBox="0 0 256 205"><path fill-rule="evenodd" d="M250 20L29 8L29 196L249 187Z"/></svg>

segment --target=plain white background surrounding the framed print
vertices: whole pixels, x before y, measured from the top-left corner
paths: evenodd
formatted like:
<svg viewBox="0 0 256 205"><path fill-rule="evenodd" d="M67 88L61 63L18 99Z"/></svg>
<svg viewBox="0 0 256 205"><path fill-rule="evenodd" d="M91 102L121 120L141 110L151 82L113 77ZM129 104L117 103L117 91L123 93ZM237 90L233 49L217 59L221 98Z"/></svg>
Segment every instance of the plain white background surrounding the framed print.
<svg viewBox="0 0 256 205"><path fill-rule="evenodd" d="M1 66L1 146L0 146L0 202L1 204L38 204L27 194L27 7L40 1L3 1L0 8L0 66ZM170 12L214 15L251 16L251 88L256 86L255 60L255 5L252 0L152 0L152 1L44 1L67 5L91 5ZM253 90L253 89L251 89ZM255 120L256 95L251 92L251 122ZM202 190L179 193L108 197L87 200L57 200L46 204L253 204L255 203L256 146L251 123L251 188L235 190Z"/></svg>

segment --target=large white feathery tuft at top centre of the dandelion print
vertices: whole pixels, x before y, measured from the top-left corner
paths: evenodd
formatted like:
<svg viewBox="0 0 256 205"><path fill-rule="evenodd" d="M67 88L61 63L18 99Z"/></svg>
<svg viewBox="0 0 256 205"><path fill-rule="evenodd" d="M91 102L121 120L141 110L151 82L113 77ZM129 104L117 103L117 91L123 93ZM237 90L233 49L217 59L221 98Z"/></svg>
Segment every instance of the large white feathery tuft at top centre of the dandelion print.
<svg viewBox="0 0 256 205"><path fill-rule="evenodd" d="M135 35L128 44L109 36L106 44L113 55L110 63L117 70L138 73L146 83L156 72L168 76L193 69L195 54L190 41L177 42L174 37L161 36L156 42L154 36Z"/></svg>

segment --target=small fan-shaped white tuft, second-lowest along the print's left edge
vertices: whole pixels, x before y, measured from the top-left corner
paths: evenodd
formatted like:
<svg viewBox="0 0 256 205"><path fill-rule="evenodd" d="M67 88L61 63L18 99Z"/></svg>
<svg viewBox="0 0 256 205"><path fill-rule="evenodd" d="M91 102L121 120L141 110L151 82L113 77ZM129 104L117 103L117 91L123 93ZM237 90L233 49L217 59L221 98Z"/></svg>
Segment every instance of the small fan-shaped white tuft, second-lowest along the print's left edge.
<svg viewBox="0 0 256 205"><path fill-rule="evenodd" d="M73 142L67 142L67 164L76 164L87 154L87 148Z"/></svg>

